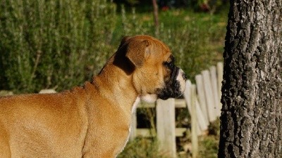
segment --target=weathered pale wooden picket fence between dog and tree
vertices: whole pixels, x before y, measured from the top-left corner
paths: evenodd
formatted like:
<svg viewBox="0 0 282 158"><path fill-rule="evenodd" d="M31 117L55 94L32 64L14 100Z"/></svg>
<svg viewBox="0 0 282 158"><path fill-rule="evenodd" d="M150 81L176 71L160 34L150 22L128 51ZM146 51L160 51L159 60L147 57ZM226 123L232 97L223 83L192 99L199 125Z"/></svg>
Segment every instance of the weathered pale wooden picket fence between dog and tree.
<svg viewBox="0 0 282 158"><path fill-rule="evenodd" d="M223 63L202 71L195 77L196 84L186 82L184 99L157 100L153 104L140 104L138 108L155 107L157 115L157 133L152 129L137 129L136 113L133 114L130 139L136 136L157 136L160 150L169 157L176 157L176 136L183 136L188 129L176 128L175 108L188 108L191 116L192 154L197 157L197 136L202 135L209 123L221 114L221 81L223 80Z"/></svg>

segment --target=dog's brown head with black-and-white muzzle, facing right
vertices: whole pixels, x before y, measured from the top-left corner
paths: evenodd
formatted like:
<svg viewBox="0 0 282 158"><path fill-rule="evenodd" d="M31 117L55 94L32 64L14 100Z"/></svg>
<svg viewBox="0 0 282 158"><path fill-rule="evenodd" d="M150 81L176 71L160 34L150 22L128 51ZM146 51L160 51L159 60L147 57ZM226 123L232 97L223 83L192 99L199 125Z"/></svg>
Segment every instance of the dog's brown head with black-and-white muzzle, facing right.
<svg viewBox="0 0 282 158"><path fill-rule="evenodd" d="M119 65L133 75L133 86L141 98L150 101L181 96L186 76L176 67L170 49L163 42L149 36L124 37L116 59L125 58ZM119 62L120 63L120 62Z"/></svg>

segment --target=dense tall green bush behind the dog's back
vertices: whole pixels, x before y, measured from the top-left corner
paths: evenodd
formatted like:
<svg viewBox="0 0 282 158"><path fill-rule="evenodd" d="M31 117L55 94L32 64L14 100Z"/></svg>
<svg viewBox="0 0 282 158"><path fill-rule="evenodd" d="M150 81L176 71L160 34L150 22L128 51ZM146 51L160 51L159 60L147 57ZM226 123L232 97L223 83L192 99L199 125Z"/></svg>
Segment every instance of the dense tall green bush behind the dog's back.
<svg viewBox="0 0 282 158"><path fill-rule="evenodd" d="M82 84L109 57L116 6L104 1L0 4L0 88L35 92Z"/></svg>

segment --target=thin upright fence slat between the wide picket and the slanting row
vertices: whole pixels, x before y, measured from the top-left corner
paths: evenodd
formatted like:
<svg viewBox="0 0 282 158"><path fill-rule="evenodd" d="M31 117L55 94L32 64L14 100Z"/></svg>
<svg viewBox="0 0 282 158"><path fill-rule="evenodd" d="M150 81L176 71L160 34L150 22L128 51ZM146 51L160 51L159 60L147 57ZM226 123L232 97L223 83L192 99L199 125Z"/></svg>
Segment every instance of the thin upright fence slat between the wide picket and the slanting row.
<svg viewBox="0 0 282 158"><path fill-rule="evenodd" d="M192 136L192 157L196 158L198 154L198 135L197 135L197 109L196 109L196 86L191 86L191 136Z"/></svg>

